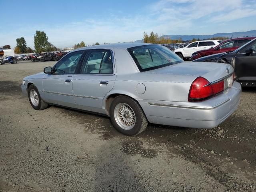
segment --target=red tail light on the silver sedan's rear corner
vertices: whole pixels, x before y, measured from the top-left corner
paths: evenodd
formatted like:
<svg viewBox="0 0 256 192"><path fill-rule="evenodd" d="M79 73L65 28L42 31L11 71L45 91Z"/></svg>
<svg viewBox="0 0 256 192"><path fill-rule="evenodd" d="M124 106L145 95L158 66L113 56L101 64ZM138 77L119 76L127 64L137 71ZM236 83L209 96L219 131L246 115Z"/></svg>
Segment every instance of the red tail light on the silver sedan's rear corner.
<svg viewBox="0 0 256 192"><path fill-rule="evenodd" d="M222 91L224 91L224 80L211 84L207 79L198 77L191 84L188 101L202 101Z"/></svg>

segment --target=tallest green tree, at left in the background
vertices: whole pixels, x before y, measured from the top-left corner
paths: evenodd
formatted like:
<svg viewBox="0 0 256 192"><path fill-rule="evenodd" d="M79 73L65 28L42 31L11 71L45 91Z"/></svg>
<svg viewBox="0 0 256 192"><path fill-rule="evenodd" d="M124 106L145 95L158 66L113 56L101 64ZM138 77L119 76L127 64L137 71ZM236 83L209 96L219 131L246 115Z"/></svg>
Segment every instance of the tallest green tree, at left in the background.
<svg viewBox="0 0 256 192"><path fill-rule="evenodd" d="M46 51L46 47L49 46L46 33L43 31L36 31L36 34L34 35L34 44L36 52Z"/></svg>

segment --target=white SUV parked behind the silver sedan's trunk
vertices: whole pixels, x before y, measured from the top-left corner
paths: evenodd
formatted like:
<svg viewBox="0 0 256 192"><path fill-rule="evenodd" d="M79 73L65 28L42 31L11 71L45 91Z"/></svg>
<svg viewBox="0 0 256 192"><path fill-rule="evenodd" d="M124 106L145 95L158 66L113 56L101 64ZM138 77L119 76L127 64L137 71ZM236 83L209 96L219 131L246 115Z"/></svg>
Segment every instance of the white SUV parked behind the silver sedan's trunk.
<svg viewBox="0 0 256 192"><path fill-rule="evenodd" d="M195 41L188 44L186 47L175 49L174 53L176 53L182 59L191 58L192 53L213 48L220 44L220 42L221 40Z"/></svg>

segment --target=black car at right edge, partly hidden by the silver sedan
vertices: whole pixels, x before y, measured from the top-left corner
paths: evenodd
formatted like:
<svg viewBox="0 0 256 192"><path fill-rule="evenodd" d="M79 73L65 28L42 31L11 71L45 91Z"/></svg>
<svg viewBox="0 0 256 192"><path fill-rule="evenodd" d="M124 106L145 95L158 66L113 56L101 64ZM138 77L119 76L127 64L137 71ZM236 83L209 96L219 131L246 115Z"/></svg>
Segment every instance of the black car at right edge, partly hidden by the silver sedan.
<svg viewBox="0 0 256 192"><path fill-rule="evenodd" d="M241 86L256 87L256 38L233 52L205 56L193 61L231 64L235 79Z"/></svg>

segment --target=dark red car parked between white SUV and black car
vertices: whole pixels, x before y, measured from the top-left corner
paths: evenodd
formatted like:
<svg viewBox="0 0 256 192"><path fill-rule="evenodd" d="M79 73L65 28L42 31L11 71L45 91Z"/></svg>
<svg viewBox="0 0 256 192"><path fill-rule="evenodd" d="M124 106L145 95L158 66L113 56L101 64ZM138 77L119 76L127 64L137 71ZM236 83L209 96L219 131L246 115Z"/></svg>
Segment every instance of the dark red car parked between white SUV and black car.
<svg viewBox="0 0 256 192"><path fill-rule="evenodd" d="M254 38L256 38L256 37L241 37L241 38L234 38L234 39L226 40L214 48L212 47L210 49L194 52L191 56L191 60L195 60L200 57L217 54L217 53L232 52L232 51L236 50L237 48L239 48L240 46L253 40Z"/></svg>

